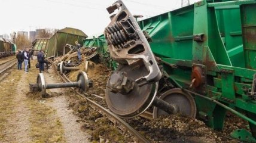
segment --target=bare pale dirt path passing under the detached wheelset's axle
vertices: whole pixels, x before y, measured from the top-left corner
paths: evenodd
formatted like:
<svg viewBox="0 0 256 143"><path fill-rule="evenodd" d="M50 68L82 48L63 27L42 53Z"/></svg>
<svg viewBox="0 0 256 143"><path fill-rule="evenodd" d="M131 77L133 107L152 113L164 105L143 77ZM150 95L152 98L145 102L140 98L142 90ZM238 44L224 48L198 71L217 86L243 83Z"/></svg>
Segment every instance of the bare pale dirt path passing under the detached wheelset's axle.
<svg viewBox="0 0 256 143"><path fill-rule="evenodd" d="M52 69L49 70L49 74L44 74L45 80L48 83L58 83L60 80L54 78L57 75ZM54 77L53 77L54 76ZM57 97L51 98L51 102L47 104L50 105L54 110L56 110L57 116L62 122L62 126L65 132L66 142L90 142L89 135L81 130L82 124L78 123L79 119L73 114L73 110L68 107L68 100L65 96L65 89L49 89L49 94L60 95Z"/></svg>

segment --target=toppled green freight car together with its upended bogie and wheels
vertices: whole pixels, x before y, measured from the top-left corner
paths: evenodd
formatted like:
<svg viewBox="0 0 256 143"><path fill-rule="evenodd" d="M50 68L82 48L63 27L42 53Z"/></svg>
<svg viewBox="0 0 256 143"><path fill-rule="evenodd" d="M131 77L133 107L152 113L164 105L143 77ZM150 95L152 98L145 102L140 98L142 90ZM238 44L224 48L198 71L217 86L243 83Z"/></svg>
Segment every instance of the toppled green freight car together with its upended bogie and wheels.
<svg viewBox="0 0 256 143"><path fill-rule="evenodd" d="M154 105L154 117L182 113L217 130L230 111L250 128L231 136L256 142L256 1L203 0L138 23L121 1L107 10L105 38L84 42L103 43L118 65L111 111L132 118Z"/></svg>

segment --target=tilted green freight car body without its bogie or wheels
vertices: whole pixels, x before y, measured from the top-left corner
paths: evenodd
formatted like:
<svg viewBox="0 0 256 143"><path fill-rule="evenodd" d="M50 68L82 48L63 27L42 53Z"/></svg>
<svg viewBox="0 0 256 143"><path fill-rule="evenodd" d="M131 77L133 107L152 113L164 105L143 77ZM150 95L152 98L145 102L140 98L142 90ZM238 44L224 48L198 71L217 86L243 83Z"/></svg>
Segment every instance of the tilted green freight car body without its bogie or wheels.
<svg viewBox="0 0 256 143"><path fill-rule="evenodd" d="M151 49L164 61L170 82L196 93L197 116L222 130L225 113L231 111L248 120L254 138L256 102L250 92L256 74L255 3L200 1L138 22L153 39ZM205 67L206 80L191 89L195 64Z"/></svg>

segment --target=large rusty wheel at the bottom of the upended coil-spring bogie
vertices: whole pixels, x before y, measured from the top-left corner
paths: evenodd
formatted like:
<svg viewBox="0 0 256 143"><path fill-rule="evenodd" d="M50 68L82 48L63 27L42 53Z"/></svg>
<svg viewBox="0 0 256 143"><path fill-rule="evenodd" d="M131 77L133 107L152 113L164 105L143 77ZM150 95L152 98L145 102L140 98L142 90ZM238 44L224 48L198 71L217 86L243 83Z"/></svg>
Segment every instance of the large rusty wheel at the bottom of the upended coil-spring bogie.
<svg viewBox="0 0 256 143"><path fill-rule="evenodd" d="M125 71L127 77L135 80L139 77L145 76L148 70L141 66L139 69L132 69L128 65L119 65L118 72ZM111 82L121 81L119 76L110 76L108 79L108 85L106 86L106 104L109 109L124 119L130 119L139 114L142 114L152 104L157 94L158 82L152 84L146 84L139 87L136 83L132 91L127 94L121 94L120 92L114 93L110 90L109 86Z"/></svg>

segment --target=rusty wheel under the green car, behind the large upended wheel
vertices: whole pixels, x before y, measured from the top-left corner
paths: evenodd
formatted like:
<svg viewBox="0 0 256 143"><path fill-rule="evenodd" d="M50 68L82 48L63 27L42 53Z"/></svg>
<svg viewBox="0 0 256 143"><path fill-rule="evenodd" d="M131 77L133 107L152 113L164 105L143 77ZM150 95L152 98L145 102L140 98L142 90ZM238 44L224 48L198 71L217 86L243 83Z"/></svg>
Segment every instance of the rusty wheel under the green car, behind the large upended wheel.
<svg viewBox="0 0 256 143"><path fill-rule="evenodd" d="M170 89L164 92L160 96L160 99L169 102L170 104L178 105L180 114L192 118L196 117L196 103L194 101L194 98L190 94L182 91L181 89ZM160 108L154 107L153 118L156 119L161 115L168 115L168 113L161 110Z"/></svg>

